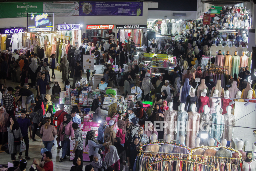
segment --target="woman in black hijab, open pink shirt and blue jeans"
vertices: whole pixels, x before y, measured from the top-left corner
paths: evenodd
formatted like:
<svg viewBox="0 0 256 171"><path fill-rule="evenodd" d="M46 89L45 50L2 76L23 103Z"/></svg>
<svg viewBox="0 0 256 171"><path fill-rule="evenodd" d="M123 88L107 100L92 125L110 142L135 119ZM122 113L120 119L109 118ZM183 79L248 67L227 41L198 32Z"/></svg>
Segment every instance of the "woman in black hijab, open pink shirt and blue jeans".
<svg viewBox="0 0 256 171"><path fill-rule="evenodd" d="M60 129L58 132L58 137L60 137L60 142L62 146L62 155L59 162L62 162L66 158L66 151L70 151L70 140L64 139L66 135L70 136L73 140L74 129L72 128L72 117L71 115L64 115L64 120L60 124Z"/></svg>

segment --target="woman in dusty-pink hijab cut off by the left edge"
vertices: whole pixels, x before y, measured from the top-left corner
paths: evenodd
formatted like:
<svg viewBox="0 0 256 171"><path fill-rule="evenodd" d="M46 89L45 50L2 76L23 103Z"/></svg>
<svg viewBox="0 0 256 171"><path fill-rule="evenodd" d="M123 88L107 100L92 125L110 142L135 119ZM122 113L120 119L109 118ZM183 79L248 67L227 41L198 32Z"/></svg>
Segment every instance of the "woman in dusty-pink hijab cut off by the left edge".
<svg viewBox="0 0 256 171"><path fill-rule="evenodd" d="M4 107L0 107L0 144L4 145L8 142L7 125L10 121L9 114Z"/></svg>

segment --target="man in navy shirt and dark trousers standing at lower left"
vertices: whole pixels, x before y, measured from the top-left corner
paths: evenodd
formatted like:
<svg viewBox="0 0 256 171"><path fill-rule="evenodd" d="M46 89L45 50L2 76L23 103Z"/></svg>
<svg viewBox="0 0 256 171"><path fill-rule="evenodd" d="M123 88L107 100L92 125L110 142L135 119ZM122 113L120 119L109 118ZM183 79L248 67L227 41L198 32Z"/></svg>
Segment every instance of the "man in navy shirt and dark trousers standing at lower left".
<svg viewBox="0 0 256 171"><path fill-rule="evenodd" d="M0 110L1 110L1 108L0 108ZM29 138L32 139L31 123L30 123L30 120L26 117L26 111L25 110L22 110L20 112L20 116L21 117L17 119L17 122L19 123L22 138L23 138L23 141L26 145L25 158L30 159L30 157L28 157L28 149L29 149ZM29 133L30 133L29 138L28 138L28 134L27 134L27 129L29 129ZM21 156L22 156L22 151L19 152L18 158L21 158Z"/></svg>

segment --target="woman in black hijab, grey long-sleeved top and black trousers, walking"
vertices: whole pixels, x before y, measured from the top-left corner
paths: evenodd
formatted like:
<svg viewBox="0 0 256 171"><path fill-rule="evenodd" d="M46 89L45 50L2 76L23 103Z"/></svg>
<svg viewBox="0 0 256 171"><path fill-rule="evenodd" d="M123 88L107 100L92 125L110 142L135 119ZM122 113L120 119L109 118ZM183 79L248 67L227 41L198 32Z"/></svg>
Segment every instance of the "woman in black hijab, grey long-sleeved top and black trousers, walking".
<svg viewBox="0 0 256 171"><path fill-rule="evenodd" d="M32 122L33 122L33 134L32 134L32 141L36 141L35 139L35 133L37 132L37 128L39 127L39 130L41 130L41 124L43 121L43 109L42 109L42 101L38 100L36 102L36 105L29 113L29 116L32 117Z"/></svg>

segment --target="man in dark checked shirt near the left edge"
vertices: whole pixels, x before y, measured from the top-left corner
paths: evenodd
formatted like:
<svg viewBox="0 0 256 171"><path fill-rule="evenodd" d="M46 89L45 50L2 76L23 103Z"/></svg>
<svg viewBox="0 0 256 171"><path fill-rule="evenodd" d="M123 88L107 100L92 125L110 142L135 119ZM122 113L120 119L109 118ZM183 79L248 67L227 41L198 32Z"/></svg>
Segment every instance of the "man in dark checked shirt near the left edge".
<svg viewBox="0 0 256 171"><path fill-rule="evenodd" d="M6 112L9 116L14 115L14 97L11 94L14 89L12 87L7 88L7 93L3 95L3 106L6 109Z"/></svg>

